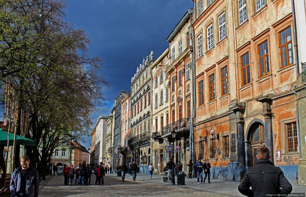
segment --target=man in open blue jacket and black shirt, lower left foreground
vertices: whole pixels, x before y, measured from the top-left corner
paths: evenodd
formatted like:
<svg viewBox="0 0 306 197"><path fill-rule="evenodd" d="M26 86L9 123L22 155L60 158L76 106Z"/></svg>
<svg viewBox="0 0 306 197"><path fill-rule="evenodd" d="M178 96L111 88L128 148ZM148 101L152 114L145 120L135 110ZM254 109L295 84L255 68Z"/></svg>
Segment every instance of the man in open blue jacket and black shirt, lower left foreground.
<svg viewBox="0 0 306 197"><path fill-rule="evenodd" d="M38 173L30 165L28 156L20 158L20 166L12 174L9 189L12 197L38 197Z"/></svg>

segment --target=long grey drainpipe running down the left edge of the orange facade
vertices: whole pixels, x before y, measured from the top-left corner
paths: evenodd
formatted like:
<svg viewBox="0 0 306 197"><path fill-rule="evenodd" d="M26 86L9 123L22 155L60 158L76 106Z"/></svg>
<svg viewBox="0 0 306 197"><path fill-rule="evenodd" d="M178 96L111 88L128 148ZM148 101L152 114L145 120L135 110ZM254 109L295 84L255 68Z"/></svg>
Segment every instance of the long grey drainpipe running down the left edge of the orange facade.
<svg viewBox="0 0 306 197"><path fill-rule="evenodd" d="M196 62L195 62L195 55L194 55L194 50L195 50L195 39L194 39L194 33L192 31L192 27L191 25L189 25L189 31L191 32L191 35L192 35L192 48L193 48L193 51L192 51L192 92L191 92L191 95L192 95L192 102L191 102L191 105L192 105L192 112L191 112L191 117L190 117L190 134L191 134L191 144L190 144L190 147L191 147L191 155L192 155L192 161L194 161L194 137L193 137L193 118L195 117L195 111L196 111L196 102L195 102L195 96L194 96L194 93L195 93L195 88L196 88L196 85L195 85L195 75L196 75Z"/></svg>

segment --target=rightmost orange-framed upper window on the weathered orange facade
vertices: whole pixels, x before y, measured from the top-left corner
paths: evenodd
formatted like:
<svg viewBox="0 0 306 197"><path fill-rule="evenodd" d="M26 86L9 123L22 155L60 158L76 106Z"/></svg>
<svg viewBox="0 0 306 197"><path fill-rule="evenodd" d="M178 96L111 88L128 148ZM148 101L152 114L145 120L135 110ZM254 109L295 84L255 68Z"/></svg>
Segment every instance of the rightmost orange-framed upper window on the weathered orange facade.
<svg viewBox="0 0 306 197"><path fill-rule="evenodd" d="M279 33L282 68L293 64L291 27Z"/></svg>

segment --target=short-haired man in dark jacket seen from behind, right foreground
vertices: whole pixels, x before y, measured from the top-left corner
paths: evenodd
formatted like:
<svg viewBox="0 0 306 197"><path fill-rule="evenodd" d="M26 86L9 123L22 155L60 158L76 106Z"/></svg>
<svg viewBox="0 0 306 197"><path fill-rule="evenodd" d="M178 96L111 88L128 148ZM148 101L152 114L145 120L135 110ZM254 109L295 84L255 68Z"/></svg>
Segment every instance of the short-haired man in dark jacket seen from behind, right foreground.
<svg viewBox="0 0 306 197"><path fill-rule="evenodd" d="M270 150L266 146L257 148L258 161L244 174L238 190L246 196L266 196L266 194L288 195L292 185L284 176L282 170L275 167L270 159ZM252 189L250 189L250 186ZM280 189L281 188L281 189Z"/></svg>

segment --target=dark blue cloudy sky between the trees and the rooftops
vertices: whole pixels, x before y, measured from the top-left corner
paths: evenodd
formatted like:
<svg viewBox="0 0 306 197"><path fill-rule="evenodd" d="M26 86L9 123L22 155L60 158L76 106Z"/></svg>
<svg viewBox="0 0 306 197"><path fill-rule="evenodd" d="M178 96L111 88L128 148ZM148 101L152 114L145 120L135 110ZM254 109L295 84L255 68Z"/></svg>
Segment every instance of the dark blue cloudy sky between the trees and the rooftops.
<svg viewBox="0 0 306 197"><path fill-rule="evenodd" d="M104 60L102 74L110 81L104 90L107 105L99 106L92 121L109 114L119 92L130 91L131 78L143 57L155 59L169 46L166 38L192 0L65 0L66 20L91 37L89 55ZM113 67L135 66L135 67ZM87 138L86 147L90 145Z"/></svg>

